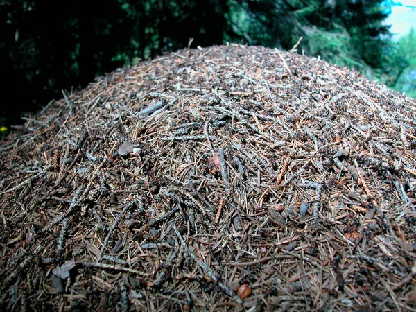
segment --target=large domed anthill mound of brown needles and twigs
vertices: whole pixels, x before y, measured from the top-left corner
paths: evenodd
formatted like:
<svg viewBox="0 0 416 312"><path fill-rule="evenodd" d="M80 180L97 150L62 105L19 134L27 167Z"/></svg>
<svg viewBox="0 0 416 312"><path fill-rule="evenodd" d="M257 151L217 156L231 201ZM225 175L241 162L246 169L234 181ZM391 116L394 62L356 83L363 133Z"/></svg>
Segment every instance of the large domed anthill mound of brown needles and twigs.
<svg viewBox="0 0 416 312"><path fill-rule="evenodd" d="M256 46L98 78L1 146L1 305L407 309L415 116Z"/></svg>

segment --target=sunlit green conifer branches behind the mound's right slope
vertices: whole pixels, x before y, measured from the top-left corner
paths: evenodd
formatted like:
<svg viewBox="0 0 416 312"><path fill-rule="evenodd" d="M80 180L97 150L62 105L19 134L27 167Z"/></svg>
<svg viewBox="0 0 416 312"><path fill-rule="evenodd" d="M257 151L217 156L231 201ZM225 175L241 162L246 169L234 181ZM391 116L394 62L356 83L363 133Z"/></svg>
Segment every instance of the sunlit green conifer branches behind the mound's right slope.
<svg viewBox="0 0 416 312"><path fill-rule="evenodd" d="M299 51L371 75L384 64L383 0L229 1L229 39ZM234 36L233 36L234 35Z"/></svg>

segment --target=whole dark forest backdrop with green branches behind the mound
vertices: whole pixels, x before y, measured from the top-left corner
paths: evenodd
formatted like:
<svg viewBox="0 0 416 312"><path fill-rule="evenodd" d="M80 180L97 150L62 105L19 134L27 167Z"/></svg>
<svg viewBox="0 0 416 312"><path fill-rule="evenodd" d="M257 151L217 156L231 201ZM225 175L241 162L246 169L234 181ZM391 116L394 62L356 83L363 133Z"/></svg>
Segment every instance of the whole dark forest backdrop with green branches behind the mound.
<svg viewBox="0 0 416 312"><path fill-rule="evenodd" d="M288 50L303 37L299 53L397 89L412 55L392 42L382 2L0 0L0 126L21 123L61 98L62 89L81 89L125 64L187 47L189 38L191 47L236 42Z"/></svg>

